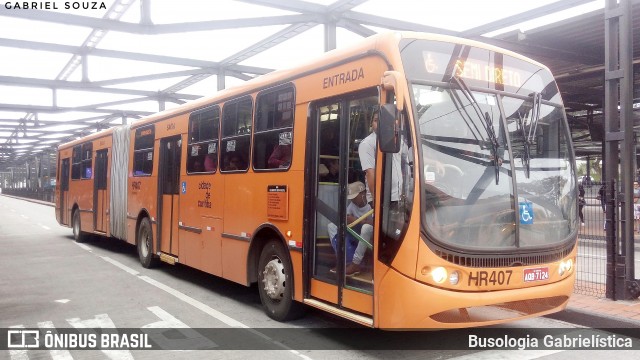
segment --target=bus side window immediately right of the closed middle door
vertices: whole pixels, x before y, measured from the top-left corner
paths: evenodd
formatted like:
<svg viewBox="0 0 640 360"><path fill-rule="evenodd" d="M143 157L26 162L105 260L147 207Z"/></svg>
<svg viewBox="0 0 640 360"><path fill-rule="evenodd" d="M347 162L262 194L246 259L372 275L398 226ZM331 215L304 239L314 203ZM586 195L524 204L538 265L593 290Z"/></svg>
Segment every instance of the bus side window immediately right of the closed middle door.
<svg viewBox="0 0 640 360"><path fill-rule="evenodd" d="M189 117L187 173L214 173L218 168L220 108L214 106Z"/></svg>

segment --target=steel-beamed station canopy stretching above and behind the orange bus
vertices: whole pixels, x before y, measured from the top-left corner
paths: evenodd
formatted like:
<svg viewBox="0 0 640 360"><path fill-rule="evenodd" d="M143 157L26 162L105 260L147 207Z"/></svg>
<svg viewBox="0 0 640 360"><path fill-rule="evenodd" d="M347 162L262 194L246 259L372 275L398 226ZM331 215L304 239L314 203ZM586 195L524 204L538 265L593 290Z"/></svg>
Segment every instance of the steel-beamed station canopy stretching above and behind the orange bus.
<svg viewBox="0 0 640 360"><path fill-rule="evenodd" d="M640 1L630 1L638 99ZM604 6L604 0L2 1L0 171L387 30L461 36L547 65L577 154L599 155ZM638 129L637 111L634 119Z"/></svg>

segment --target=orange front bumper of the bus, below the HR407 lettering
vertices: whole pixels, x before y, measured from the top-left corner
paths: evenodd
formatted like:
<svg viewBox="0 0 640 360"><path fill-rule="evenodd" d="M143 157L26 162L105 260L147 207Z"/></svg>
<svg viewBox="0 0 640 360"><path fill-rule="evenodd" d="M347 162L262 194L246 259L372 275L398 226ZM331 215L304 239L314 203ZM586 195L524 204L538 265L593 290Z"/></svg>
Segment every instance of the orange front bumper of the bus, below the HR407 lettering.
<svg viewBox="0 0 640 360"><path fill-rule="evenodd" d="M376 327L446 329L505 323L563 310L575 272L542 286L485 292L433 287L389 269L379 284Z"/></svg>

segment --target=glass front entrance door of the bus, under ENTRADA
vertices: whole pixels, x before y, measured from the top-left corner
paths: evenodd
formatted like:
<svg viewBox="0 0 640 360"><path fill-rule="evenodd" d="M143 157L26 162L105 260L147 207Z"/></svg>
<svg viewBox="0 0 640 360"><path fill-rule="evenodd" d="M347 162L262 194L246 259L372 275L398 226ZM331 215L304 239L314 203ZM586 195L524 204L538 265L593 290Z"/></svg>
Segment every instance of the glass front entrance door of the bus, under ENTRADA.
<svg viewBox="0 0 640 360"><path fill-rule="evenodd" d="M358 144L369 134L378 104L374 89L313 106L317 148L312 152L315 221L308 294L347 311L373 315L373 211L366 201L365 176ZM351 185L350 185L351 184ZM352 192L349 192L352 189ZM357 195L356 193L357 192ZM349 204L364 216L354 222ZM350 219L350 220L348 220Z"/></svg>

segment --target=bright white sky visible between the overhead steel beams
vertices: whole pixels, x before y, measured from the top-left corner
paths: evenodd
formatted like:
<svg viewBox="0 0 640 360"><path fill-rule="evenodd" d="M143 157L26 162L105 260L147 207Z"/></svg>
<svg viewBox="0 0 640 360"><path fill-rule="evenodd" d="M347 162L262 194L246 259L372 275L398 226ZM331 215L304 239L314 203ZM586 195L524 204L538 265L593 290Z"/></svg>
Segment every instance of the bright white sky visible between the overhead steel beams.
<svg viewBox="0 0 640 360"><path fill-rule="evenodd" d="M120 21L139 22L141 17L139 0L125 1L130 2L131 5L120 18ZM334 0L307 0L307 2L329 5L333 3ZM555 2L555 0L369 0L352 10L448 30L462 31L552 2ZM7 9L6 3L5 1L0 2L0 38L79 46L91 32L91 29L84 27L2 16L11 11L21 11L15 8ZM44 1L44 3L55 3L58 7L57 10L48 11L96 18L101 18L105 14L105 10L65 9L65 4L69 3L69 1L55 0ZM109 8L113 0L107 0L104 1L104 3L107 8ZM534 21L505 28L488 35L497 35L498 33L515 29L526 32L537 26L559 21L583 12L596 10L603 6L604 0L593 1L568 11L544 16ZM151 0L151 20L155 24L210 21L216 19L258 18L291 14L295 13L234 0ZM136 35L110 31L98 43L97 48L220 61L240 51L244 47L258 42L286 27L287 25L265 26L166 35ZM384 30L378 28L371 29L374 31ZM324 51L323 37L323 26L318 25L240 64L272 69L295 66L297 63L304 62L322 54ZM361 39L359 35L342 28L338 28L337 30L338 48L349 46L349 44L358 39ZM0 76L39 79L55 79L70 58L69 54L6 47L0 47L0 54ZM189 69L187 67L168 64L126 61L96 56L89 56L88 65L88 75L91 81ZM68 80L81 80L80 67L68 77ZM171 78L136 84L119 84L116 85L116 87L156 91L171 86L179 80L181 79ZM211 95L216 91L216 81L216 77L212 76L205 81L183 89L181 92L196 95ZM242 81L235 78L226 78L227 87L240 82ZM57 92L57 104L59 106L80 106L90 103L118 101L129 97L130 96L61 90ZM0 84L0 104L48 106L52 105L52 101L52 91L50 89L22 88ZM176 105L167 103L167 108L172 106ZM131 110L158 111L158 104L155 101L118 106L118 108L122 107ZM0 124L2 124L2 119L15 119L23 117L24 115L25 113L0 111ZM63 114L40 114L39 116L41 119L60 120L63 122L68 119L91 117L95 116L95 114L74 111ZM61 125L60 129L66 129L66 126ZM59 136L52 135L51 143L55 143L56 137ZM3 140L0 139L0 142L2 141Z"/></svg>

